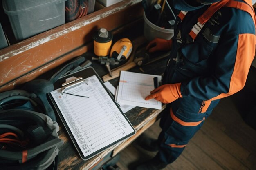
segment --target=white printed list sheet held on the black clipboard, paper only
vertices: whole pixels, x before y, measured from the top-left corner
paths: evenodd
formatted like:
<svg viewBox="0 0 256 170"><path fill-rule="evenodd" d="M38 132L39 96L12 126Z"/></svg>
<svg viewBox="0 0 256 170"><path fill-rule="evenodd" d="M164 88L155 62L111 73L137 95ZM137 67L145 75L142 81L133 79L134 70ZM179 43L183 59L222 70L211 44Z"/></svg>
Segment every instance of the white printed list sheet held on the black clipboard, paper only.
<svg viewBox="0 0 256 170"><path fill-rule="evenodd" d="M134 132L119 111L99 79L94 75L61 94L61 89L51 94L60 109L79 148L86 157Z"/></svg>

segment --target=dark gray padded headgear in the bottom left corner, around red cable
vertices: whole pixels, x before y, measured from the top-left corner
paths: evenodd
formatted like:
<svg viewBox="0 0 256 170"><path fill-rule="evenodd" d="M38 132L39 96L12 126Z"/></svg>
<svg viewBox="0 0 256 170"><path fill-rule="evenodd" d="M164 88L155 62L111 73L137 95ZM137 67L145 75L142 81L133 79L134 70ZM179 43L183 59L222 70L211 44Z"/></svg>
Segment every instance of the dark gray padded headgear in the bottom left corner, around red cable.
<svg viewBox="0 0 256 170"><path fill-rule="evenodd" d="M0 167L4 167L4 170L45 170L58 154L58 147L63 144L58 138L58 130L58 124L42 113L19 109L0 110L0 134L19 131L18 138L24 141L29 138L30 143L23 146L26 149L5 146L6 149L0 151ZM27 161L22 163L24 150L27 152Z"/></svg>

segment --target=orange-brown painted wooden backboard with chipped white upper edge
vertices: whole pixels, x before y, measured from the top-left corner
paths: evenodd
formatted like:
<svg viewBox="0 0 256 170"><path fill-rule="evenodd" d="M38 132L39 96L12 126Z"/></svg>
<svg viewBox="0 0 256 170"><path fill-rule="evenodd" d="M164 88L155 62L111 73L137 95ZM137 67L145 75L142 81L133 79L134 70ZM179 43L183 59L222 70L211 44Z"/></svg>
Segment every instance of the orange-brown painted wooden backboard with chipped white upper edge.
<svg viewBox="0 0 256 170"><path fill-rule="evenodd" d="M111 31L141 18L143 9L139 2L120 2L0 50L0 88L38 68L49 71L60 64L49 63L74 50L85 53L86 44L92 41L97 29L104 27ZM9 86L16 85L12 84Z"/></svg>

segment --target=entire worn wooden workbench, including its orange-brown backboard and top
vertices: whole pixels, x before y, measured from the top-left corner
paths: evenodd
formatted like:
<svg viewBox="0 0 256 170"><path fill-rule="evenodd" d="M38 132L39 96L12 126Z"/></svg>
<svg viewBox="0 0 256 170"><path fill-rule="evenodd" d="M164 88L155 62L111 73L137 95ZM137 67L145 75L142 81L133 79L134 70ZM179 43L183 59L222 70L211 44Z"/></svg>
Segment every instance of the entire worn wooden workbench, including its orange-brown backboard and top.
<svg viewBox="0 0 256 170"><path fill-rule="evenodd" d="M92 34L99 28L112 31L116 40L124 37L132 39L142 35L142 14L141 0L124 0L0 50L0 92L19 88L32 79L47 79L47 76L50 76L47 72L55 73L63 64L79 55L84 55L90 60L90 51L93 49ZM143 70L145 73L161 75L165 63L166 61L162 60L158 64L144 66ZM97 61L92 62L92 67L100 77L108 73L105 66ZM129 71L141 73L138 67ZM118 80L112 79L110 83L116 87ZM165 105L162 106L162 109L164 108ZM97 167L106 155L117 155L150 127L158 119L161 111L140 107L128 111L126 116L135 128L136 134L88 161L83 161L79 157L63 124L57 118L60 125L58 134L64 140L58 155L58 170L91 170Z"/></svg>

